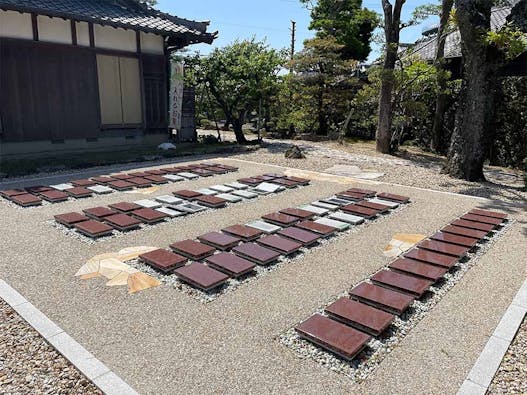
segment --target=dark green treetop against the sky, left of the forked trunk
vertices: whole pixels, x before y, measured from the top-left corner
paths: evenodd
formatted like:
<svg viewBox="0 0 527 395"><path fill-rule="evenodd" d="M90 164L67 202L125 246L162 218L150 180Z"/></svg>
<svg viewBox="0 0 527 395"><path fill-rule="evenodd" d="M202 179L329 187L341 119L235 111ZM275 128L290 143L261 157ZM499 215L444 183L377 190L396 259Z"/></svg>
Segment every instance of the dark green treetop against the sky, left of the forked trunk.
<svg viewBox="0 0 527 395"><path fill-rule="evenodd" d="M362 8L362 0L300 0L311 9L309 28L316 38L334 37L341 45L343 59L365 60L370 54L373 30L379 23L377 14Z"/></svg>

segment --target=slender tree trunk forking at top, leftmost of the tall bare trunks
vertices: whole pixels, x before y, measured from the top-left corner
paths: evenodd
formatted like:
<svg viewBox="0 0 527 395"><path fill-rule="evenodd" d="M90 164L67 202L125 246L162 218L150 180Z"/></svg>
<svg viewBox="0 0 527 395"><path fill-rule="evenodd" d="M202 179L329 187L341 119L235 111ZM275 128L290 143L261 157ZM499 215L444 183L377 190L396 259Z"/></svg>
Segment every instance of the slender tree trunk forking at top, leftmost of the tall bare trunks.
<svg viewBox="0 0 527 395"><path fill-rule="evenodd" d="M386 39L384 65L381 75L379 95L379 123L377 126L377 151L389 154L392 152L392 91L394 86L394 69L399 49L399 34L402 29L401 9L405 0L395 0L395 5L382 0L384 10L384 35Z"/></svg>

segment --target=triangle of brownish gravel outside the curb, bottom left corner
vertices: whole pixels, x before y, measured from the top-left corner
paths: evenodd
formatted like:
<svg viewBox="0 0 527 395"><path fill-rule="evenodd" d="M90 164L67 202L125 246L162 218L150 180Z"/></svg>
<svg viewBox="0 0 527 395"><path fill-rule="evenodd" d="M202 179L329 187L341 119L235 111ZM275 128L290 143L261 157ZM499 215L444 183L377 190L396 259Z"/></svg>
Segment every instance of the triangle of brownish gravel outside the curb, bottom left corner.
<svg viewBox="0 0 527 395"><path fill-rule="evenodd" d="M0 299L0 393L102 392Z"/></svg>

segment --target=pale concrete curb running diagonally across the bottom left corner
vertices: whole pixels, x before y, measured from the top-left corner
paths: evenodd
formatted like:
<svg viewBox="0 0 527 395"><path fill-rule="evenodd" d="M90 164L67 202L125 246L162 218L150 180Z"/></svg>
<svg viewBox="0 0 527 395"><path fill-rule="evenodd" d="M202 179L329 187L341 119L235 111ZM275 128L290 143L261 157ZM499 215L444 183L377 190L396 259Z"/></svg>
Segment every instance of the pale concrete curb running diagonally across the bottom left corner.
<svg viewBox="0 0 527 395"><path fill-rule="evenodd" d="M14 288L0 279L0 298L101 391L108 395L136 395L119 376L76 342Z"/></svg>

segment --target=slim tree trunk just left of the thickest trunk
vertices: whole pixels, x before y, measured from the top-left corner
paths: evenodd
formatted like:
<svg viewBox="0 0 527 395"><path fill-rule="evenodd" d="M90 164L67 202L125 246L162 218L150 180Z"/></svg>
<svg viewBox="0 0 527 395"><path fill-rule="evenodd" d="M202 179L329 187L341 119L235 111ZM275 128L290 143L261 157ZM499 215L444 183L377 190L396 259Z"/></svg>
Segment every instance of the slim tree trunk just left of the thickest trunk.
<svg viewBox="0 0 527 395"><path fill-rule="evenodd" d="M434 124L432 126L432 141L430 148L432 151L442 153L444 149L444 128L445 112L447 110L448 95L445 93L447 79L445 76L445 43L448 35L448 20L454 0L443 0L441 5L441 18L439 31L437 32L437 52L435 57L435 67L437 75L437 98L436 110L434 114Z"/></svg>

